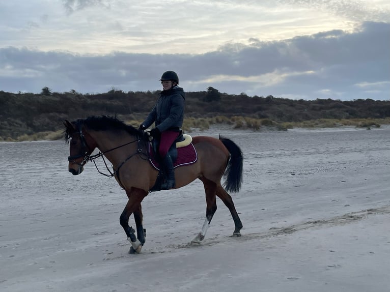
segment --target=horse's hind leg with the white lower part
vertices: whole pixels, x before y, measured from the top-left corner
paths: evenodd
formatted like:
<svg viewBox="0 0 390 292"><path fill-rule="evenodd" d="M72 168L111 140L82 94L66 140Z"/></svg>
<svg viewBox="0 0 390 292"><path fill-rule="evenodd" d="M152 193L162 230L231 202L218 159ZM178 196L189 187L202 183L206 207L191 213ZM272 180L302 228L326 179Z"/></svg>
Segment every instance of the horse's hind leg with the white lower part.
<svg viewBox="0 0 390 292"><path fill-rule="evenodd" d="M203 182L206 193L206 219L203 223L201 232L198 233L191 243L200 243L205 238L211 219L213 218L215 211L217 211L217 203L215 200L216 184L205 178L202 178L201 181Z"/></svg>

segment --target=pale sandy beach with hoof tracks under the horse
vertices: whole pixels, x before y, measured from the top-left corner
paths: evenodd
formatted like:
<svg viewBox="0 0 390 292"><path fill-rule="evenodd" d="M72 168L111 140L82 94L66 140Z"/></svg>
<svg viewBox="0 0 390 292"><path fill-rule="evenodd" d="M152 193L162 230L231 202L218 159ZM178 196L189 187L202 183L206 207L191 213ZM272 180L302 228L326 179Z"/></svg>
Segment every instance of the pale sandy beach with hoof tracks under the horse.
<svg viewBox="0 0 390 292"><path fill-rule="evenodd" d="M390 129L191 133L218 134L244 154L242 237L217 199L189 244L206 212L196 181L144 199L141 254L128 254L114 179L93 163L72 176L64 141L1 142L0 291L390 290Z"/></svg>

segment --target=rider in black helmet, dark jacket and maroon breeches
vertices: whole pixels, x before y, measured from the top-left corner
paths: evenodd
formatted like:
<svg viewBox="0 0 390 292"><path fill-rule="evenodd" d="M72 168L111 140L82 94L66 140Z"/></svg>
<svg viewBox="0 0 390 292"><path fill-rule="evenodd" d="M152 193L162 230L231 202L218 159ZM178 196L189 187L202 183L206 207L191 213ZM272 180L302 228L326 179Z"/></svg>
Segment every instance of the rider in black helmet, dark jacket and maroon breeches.
<svg viewBox="0 0 390 292"><path fill-rule="evenodd" d="M145 130L155 123L155 128L148 135L160 140L158 153L163 162L166 173L166 183L161 189L175 188L175 170L173 161L168 153L175 139L179 136L180 127L184 119L184 90L179 87L179 77L174 71L166 71L161 76L163 91L147 116L140 125L140 130Z"/></svg>

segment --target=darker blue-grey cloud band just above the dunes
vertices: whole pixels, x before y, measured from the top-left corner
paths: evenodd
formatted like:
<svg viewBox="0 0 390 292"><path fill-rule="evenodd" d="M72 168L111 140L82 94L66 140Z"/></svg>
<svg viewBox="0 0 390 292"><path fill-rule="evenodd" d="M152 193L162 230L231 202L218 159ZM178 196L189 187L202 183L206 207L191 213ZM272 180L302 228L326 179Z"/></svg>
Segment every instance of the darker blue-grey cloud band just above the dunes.
<svg viewBox="0 0 390 292"><path fill-rule="evenodd" d="M349 34L330 31L275 42L252 40L205 54L104 56L0 49L0 90L64 92L158 90L162 72L175 70L188 91L213 86L221 92L305 99L390 97L389 23L366 22ZM218 76L226 78L218 78ZM236 76L239 76L236 78ZM269 82L268 82L268 79ZM278 82L271 82L275 78ZM210 81L214 80L214 81ZM367 86L356 84L372 83Z"/></svg>

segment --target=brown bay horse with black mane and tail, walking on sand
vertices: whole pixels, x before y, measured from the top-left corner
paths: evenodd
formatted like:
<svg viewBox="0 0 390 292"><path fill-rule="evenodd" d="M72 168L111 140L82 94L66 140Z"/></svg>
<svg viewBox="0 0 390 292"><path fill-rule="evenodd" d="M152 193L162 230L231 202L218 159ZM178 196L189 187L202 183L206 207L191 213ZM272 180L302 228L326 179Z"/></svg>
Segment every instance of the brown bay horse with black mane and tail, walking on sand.
<svg viewBox="0 0 390 292"><path fill-rule="evenodd" d="M131 244L129 253L140 253L146 236L141 202L149 194L159 174L150 161L148 137L144 131L106 115L89 116L73 122L65 120L63 124L65 140L69 143L69 172L73 175L80 174L83 166L88 161L95 163L97 157L102 157L103 160L105 157L112 164L113 172L104 161L111 177L115 177L128 197L119 222ZM191 243L200 244L205 238L217 210L216 196L224 202L232 215L235 225L233 237L240 237L242 223L228 191L238 192L241 188L243 168L241 149L232 140L220 135L218 138L194 136L191 143L196 149L196 161L175 168L175 189L196 179L201 180L204 185L206 218L201 231ZM99 150L99 153L92 155L95 149ZM222 178L225 180L225 188L221 185ZM128 223L131 214L134 215L136 230Z"/></svg>

